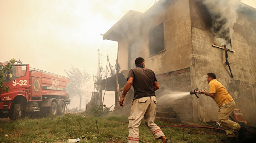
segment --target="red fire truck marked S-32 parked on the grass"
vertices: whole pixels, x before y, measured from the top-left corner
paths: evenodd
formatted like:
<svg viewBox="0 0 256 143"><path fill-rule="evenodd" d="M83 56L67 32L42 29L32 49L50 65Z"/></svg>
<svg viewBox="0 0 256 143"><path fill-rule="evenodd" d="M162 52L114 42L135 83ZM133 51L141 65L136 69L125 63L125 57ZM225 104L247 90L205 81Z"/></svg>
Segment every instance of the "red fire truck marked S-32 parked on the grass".
<svg viewBox="0 0 256 143"><path fill-rule="evenodd" d="M0 62L0 68L7 63ZM61 115L70 103L67 77L30 68L29 64L14 64L4 76L9 91L0 92L0 118L17 119L33 113Z"/></svg>

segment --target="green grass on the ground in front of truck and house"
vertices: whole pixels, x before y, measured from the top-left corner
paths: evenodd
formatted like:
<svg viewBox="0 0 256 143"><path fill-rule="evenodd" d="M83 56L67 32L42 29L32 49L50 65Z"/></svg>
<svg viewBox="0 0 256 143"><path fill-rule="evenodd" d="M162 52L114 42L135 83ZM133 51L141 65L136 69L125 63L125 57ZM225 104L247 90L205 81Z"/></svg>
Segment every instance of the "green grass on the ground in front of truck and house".
<svg viewBox="0 0 256 143"><path fill-rule="evenodd" d="M156 123L166 125L161 121ZM143 124L139 127L140 143L161 143L161 140L154 139ZM225 138L224 132L213 129L169 127L161 129L166 137L172 137L175 143L220 143L220 139ZM81 143L127 143L128 118L127 116L96 118L85 114L65 114L16 121L0 119L0 143L65 143L68 139L82 137L86 139L82 139Z"/></svg>

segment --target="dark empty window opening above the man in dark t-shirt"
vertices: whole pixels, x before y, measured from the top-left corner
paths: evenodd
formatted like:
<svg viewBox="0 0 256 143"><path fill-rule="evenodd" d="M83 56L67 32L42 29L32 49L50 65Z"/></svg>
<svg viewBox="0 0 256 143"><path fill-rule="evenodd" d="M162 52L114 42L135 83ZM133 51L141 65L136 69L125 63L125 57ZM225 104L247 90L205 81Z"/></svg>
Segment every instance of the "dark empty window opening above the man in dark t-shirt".
<svg viewBox="0 0 256 143"><path fill-rule="evenodd" d="M149 31L149 53L156 54L164 50L164 24L161 23Z"/></svg>

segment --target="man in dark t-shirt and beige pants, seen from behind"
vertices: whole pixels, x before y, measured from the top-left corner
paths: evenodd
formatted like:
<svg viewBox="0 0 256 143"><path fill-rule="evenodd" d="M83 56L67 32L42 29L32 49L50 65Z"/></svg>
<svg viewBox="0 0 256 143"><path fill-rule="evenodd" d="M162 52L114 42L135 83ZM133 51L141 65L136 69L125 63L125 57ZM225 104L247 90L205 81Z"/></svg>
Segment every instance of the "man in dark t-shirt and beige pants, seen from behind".
<svg viewBox="0 0 256 143"><path fill-rule="evenodd" d="M127 83L124 86L122 97L119 100L123 105L124 97L133 85L134 96L132 101L131 114L129 116L129 143L139 142L139 125L144 117L145 124L154 135L155 139L162 139L163 143L171 143L166 139L162 130L154 123L156 116L156 95L155 90L159 89L155 73L145 68L145 60L141 57L135 60L136 68L129 71Z"/></svg>

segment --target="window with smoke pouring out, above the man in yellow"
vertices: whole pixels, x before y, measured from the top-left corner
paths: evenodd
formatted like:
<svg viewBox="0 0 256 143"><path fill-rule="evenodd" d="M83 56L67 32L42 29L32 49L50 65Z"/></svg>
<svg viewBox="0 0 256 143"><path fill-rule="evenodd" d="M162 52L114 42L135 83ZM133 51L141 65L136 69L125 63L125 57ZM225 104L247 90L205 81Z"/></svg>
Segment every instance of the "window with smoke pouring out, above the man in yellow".
<svg viewBox="0 0 256 143"><path fill-rule="evenodd" d="M227 49L232 50L228 20L220 15L212 16L211 19L214 44L221 47L227 45Z"/></svg>

